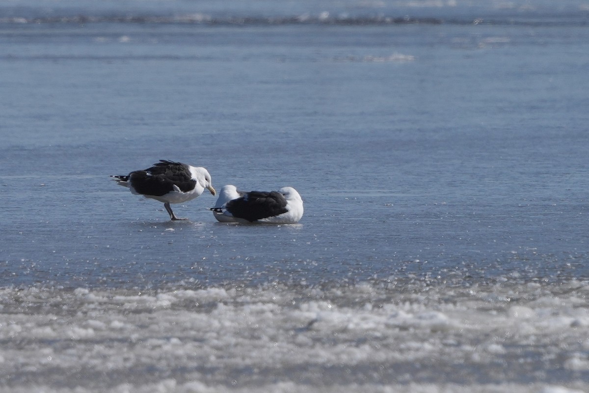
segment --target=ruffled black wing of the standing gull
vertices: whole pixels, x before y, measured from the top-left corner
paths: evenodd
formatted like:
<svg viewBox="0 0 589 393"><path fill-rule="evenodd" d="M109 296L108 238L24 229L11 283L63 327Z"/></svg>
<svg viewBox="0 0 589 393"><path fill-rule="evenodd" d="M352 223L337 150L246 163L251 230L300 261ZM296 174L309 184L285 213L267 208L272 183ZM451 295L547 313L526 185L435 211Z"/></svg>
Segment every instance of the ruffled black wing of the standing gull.
<svg viewBox="0 0 589 393"><path fill-rule="evenodd" d="M160 160L151 168L131 172L129 179L135 191L154 196L173 191L174 185L183 192L194 189L196 185L186 164L166 160Z"/></svg>

